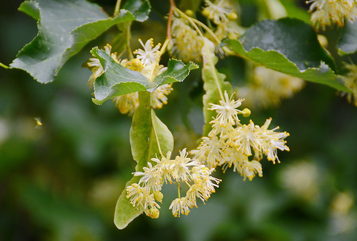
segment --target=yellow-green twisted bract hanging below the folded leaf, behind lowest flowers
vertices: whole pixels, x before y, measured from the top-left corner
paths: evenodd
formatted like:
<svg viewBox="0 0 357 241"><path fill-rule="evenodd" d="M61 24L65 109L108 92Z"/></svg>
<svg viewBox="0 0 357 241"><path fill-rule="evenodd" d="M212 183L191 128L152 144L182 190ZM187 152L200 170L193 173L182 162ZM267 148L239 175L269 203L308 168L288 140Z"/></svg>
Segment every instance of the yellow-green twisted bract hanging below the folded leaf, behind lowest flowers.
<svg viewBox="0 0 357 241"><path fill-rule="evenodd" d="M142 171L147 162L159 154L159 147L164 155L174 148L174 138L170 130L159 118L156 117L151 108L151 93L139 93L139 108L135 111L131 128L130 144L134 160L137 162L136 171ZM134 177L126 183L129 186L139 181L139 177ZM117 201L114 214L114 223L118 229L124 229L140 212L130 204L126 198L126 189L124 189Z"/></svg>

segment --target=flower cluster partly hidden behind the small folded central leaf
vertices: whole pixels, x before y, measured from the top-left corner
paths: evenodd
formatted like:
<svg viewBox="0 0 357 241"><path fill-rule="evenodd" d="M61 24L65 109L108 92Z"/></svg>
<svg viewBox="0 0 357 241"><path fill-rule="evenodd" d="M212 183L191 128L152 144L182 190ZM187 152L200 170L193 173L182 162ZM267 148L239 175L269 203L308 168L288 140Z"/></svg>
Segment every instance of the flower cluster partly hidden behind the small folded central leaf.
<svg viewBox="0 0 357 241"><path fill-rule="evenodd" d="M107 54L109 54L113 60L120 65L137 72L140 72L143 76L147 78L155 78L156 76L160 75L164 71L167 70L167 67L163 65L159 65L159 58L160 58L160 51L159 48L161 44L157 44L154 47L153 39L149 39L145 42L145 44L139 39L144 50L135 50L134 54L136 58L131 60L120 60L117 57L117 53L112 53L112 47L107 44L104 47L104 50ZM100 76L104 70L98 58L90 58L89 62L87 63L89 69L92 71L92 75L88 80L88 86L93 89L95 79ZM159 86L154 92L152 92L153 101L153 108L162 108L164 104L167 104L167 95L171 93L173 90L172 84L164 84ZM135 110L139 107L139 95L138 92L125 94L122 96L117 96L112 98L115 107L119 109L122 114L129 114L131 116Z"/></svg>

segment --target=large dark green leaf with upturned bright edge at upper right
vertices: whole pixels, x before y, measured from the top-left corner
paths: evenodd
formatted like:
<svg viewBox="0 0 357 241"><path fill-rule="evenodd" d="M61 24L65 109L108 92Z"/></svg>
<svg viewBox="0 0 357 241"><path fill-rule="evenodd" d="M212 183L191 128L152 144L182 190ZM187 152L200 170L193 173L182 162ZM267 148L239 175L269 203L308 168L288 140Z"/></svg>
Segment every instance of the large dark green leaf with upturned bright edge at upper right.
<svg viewBox="0 0 357 241"><path fill-rule="evenodd" d="M316 33L301 20L264 20L247 29L240 41L223 42L238 56L275 71L351 92L331 69L335 63L318 43Z"/></svg>

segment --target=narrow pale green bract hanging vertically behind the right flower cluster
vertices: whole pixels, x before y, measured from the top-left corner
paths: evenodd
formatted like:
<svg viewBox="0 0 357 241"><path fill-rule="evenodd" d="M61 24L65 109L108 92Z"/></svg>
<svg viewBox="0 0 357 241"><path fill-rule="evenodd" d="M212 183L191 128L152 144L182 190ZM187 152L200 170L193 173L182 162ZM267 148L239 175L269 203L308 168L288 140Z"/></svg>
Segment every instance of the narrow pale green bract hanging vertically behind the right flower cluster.
<svg viewBox="0 0 357 241"><path fill-rule="evenodd" d="M221 100L221 95L227 91L229 95L233 93L231 83L224 81L226 76L219 73L215 67L218 62L217 56L214 54L214 45L208 39L204 39L202 48L203 67L202 80L203 89L206 94L203 95L203 116L205 125L203 126L203 136L208 136L208 132L212 129L210 121L212 117L216 117L215 111L208 110L210 103L218 104Z"/></svg>

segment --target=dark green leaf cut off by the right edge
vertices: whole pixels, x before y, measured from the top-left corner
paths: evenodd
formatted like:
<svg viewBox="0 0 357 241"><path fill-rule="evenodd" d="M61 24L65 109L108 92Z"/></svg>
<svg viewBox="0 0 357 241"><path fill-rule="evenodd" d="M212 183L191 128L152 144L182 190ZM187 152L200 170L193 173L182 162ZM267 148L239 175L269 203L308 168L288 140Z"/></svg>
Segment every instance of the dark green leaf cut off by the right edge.
<svg viewBox="0 0 357 241"><path fill-rule="evenodd" d="M357 51L357 21L346 21L337 47L340 55L350 55Z"/></svg>

